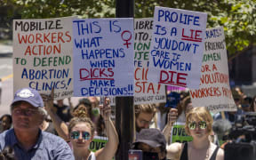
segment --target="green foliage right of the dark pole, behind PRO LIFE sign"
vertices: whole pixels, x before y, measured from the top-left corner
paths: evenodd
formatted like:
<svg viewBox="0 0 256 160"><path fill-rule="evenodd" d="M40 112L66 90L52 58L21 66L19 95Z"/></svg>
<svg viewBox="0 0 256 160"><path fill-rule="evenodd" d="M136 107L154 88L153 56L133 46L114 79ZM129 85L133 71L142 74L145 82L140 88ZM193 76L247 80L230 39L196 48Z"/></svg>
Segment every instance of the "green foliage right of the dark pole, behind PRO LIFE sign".
<svg viewBox="0 0 256 160"><path fill-rule="evenodd" d="M207 12L207 28L224 28L229 57L255 44L256 0L140 0L135 16L153 17L157 5Z"/></svg>

